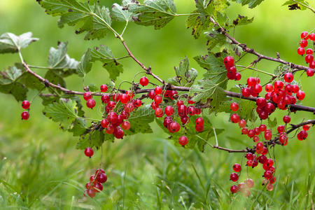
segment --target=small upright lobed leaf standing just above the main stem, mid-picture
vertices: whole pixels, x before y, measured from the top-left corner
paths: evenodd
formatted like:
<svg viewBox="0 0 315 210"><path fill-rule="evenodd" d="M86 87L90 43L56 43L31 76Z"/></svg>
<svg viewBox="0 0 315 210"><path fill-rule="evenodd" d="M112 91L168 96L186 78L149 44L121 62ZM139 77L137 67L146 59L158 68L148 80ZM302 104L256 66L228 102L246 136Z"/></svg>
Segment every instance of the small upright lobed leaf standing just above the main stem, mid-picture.
<svg viewBox="0 0 315 210"><path fill-rule="evenodd" d="M196 69L189 69L189 59L186 57L179 63L179 67L174 67L176 76L169 78L168 82L172 85L182 85L190 87L195 82L198 72Z"/></svg>

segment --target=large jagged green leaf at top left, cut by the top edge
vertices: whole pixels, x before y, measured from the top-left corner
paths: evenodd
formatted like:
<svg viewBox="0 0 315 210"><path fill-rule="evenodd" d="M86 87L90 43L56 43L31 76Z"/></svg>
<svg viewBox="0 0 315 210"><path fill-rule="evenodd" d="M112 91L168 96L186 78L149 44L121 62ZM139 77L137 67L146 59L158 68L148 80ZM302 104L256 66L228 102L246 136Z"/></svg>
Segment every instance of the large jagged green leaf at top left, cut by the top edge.
<svg viewBox="0 0 315 210"><path fill-rule="evenodd" d="M38 0L45 12L60 16L58 27L76 27L76 34L87 32L86 40L104 38L111 31L111 15L108 8L99 3L89 5L88 1Z"/></svg>

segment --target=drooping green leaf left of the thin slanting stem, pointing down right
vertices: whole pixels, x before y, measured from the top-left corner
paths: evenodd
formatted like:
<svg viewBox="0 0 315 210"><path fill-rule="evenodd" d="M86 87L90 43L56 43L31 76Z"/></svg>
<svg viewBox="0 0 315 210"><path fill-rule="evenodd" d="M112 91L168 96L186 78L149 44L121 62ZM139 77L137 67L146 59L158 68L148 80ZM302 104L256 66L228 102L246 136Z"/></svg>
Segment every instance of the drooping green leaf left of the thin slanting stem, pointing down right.
<svg viewBox="0 0 315 210"><path fill-rule="evenodd" d="M113 80L116 80L120 73L124 71L123 65L117 62L111 49L105 45L91 50L91 60L92 62L97 60L102 62L103 67L109 72L109 78Z"/></svg>

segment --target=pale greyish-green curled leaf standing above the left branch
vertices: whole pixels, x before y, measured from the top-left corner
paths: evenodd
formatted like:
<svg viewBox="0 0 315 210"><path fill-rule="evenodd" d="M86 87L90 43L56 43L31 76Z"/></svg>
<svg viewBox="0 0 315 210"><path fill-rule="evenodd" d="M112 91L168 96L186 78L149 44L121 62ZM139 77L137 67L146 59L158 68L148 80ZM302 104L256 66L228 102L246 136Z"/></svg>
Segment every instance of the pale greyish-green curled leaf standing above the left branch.
<svg viewBox="0 0 315 210"><path fill-rule="evenodd" d="M57 49L50 48L48 55L48 67L51 69L76 69L78 63L75 59L66 54L68 43L58 43Z"/></svg>

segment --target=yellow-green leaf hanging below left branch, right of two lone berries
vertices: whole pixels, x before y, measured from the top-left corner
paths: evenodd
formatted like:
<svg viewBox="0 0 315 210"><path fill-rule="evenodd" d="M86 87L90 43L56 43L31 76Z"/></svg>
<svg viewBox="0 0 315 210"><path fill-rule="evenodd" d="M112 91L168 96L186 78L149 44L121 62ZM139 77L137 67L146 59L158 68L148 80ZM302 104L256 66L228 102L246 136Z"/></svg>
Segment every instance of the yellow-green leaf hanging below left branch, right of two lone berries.
<svg viewBox="0 0 315 210"><path fill-rule="evenodd" d="M60 123L66 130L78 118L76 104L71 99L59 99L59 102L48 104L43 109L43 114L53 121Z"/></svg>

